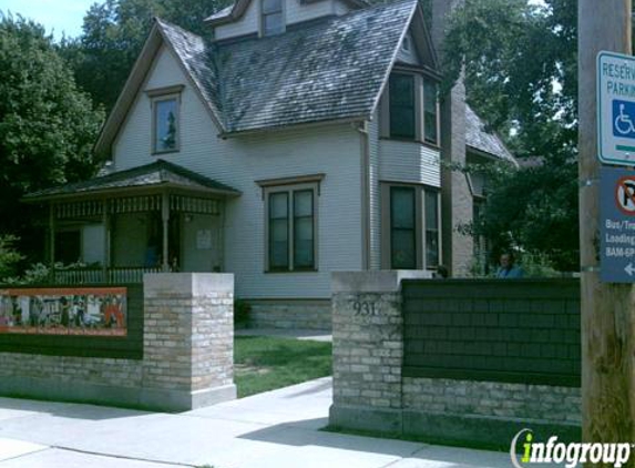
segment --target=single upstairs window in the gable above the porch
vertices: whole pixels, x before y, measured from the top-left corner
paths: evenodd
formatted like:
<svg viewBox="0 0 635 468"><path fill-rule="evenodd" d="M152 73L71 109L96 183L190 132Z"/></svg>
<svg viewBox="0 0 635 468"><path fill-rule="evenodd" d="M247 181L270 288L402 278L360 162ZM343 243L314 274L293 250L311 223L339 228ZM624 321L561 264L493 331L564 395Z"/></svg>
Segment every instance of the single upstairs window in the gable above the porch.
<svg viewBox="0 0 635 468"><path fill-rule="evenodd" d="M152 102L152 154L172 153L181 146L180 105L183 85L147 90Z"/></svg>

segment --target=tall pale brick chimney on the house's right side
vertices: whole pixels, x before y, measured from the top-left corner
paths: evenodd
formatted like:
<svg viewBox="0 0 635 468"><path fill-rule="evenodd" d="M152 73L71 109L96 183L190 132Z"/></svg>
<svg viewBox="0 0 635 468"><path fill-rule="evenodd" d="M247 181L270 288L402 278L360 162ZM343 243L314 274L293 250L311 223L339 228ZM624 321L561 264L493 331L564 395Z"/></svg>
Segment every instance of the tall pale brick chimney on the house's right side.
<svg viewBox="0 0 635 468"><path fill-rule="evenodd" d="M448 14L463 0L431 0L432 42L439 61L452 51L443 50ZM473 242L459 227L472 221L472 193L467 175L447 169L465 165L465 87L462 77L452 90L441 96L441 230L443 264L454 277L469 273Z"/></svg>

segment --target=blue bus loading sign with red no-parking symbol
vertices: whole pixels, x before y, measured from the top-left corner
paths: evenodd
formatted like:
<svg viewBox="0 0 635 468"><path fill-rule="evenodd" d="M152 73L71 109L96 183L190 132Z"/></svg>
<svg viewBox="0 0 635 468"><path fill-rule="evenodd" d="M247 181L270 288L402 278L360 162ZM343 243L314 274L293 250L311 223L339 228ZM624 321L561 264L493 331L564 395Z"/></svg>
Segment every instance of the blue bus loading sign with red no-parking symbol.
<svg viewBox="0 0 635 468"><path fill-rule="evenodd" d="M601 279L635 283L635 171L601 170Z"/></svg>

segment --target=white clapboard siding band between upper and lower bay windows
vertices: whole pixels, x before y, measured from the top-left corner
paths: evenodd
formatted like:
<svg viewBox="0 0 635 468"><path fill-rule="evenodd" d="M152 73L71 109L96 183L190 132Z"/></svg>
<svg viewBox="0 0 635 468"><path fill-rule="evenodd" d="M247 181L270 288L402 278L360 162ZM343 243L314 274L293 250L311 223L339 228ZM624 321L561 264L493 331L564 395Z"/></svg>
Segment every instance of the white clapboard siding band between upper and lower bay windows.
<svg viewBox="0 0 635 468"><path fill-rule="evenodd" d="M441 186L439 151L416 142L379 141L379 177L382 181Z"/></svg>

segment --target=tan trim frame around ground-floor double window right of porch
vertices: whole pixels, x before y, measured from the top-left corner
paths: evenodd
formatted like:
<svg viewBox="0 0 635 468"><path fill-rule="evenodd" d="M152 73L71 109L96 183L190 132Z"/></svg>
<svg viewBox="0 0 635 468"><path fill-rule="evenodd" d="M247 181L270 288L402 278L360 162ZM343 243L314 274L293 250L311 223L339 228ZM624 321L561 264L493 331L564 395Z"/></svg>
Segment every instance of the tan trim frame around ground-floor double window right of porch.
<svg viewBox="0 0 635 468"><path fill-rule="evenodd" d="M324 174L318 174L316 176L306 176L306 177L297 177L297 180L303 180L303 179L315 179L315 177L319 177L317 180L314 180L311 182L298 182L296 184L293 184L290 182L288 183L284 183L284 184L279 184L279 185L273 185L272 183L275 182L275 180L272 181L260 181L257 182L258 185L260 185L263 187L263 201L264 201L264 205L265 205L265 216L264 216L264 237L265 237L265 258L264 258L264 265L265 265L265 273L272 273L272 274L276 274L276 273L315 273L317 271L319 271L319 196L320 196L320 181L324 177ZM291 181L293 179L280 179L277 181ZM300 269L295 269L295 265L294 265L294 242L295 242L295 235L294 235L294 213L293 213L293 194L294 192L301 192L301 191L313 191L313 202L314 202L314 212L313 212L313 218L314 218L314 267L313 268L300 268ZM288 269L270 269L269 267L269 195L273 193L288 193L288 240L289 240L289 245L288 245L288 261L289 261L289 268Z"/></svg>

